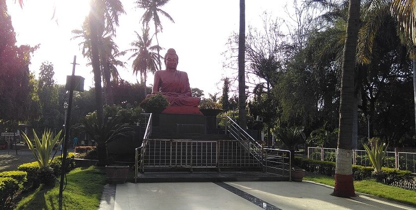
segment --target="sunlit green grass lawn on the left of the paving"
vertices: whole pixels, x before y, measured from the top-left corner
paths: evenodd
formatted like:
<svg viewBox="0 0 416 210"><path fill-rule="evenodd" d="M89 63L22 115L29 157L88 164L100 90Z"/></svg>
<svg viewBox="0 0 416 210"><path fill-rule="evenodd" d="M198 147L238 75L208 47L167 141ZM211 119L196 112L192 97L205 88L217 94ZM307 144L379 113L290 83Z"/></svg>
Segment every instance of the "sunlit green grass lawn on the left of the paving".
<svg viewBox="0 0 416 210"><path fill-rule="evenodd" d="M105 184L103 172L97 167L75 168L66 177L62 210L97 210ZM58 182L52 189L38 188L24 196L15 210L58 210L58 194Z"/></svg>

